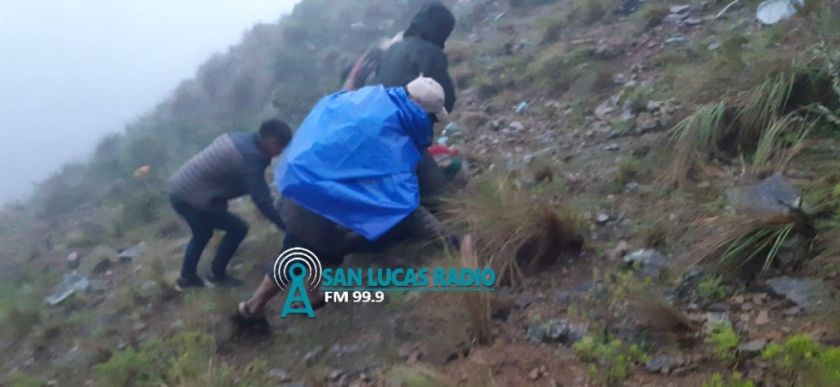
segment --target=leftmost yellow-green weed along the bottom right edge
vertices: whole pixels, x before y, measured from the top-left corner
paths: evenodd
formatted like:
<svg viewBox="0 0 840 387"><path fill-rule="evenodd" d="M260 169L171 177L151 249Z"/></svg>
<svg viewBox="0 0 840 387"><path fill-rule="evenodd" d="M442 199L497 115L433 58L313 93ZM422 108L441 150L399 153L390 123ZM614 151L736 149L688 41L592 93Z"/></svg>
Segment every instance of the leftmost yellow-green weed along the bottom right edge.
<svg viewBox="0 0 840 387"><path fill-rule="evenodd" d="M627 379L630 367L645 363L648 356L636 344L626 344L618 339L594 339L586 336L574 345L582 361L591 363L589 377L608 386L617 386Z"/></svg>

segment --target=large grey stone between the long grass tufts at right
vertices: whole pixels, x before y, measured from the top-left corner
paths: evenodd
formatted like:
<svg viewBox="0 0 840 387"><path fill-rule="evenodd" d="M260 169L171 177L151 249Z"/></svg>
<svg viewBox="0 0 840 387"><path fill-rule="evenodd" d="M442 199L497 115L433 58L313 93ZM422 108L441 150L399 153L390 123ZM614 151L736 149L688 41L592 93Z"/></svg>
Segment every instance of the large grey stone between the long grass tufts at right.
<svg viewBox="0 0 840 387"><path fill-rule="evenodd" d="M726 199L736 211L787 214L800 207L802 194L776 173L757 184L727 189Z"/></svg>

